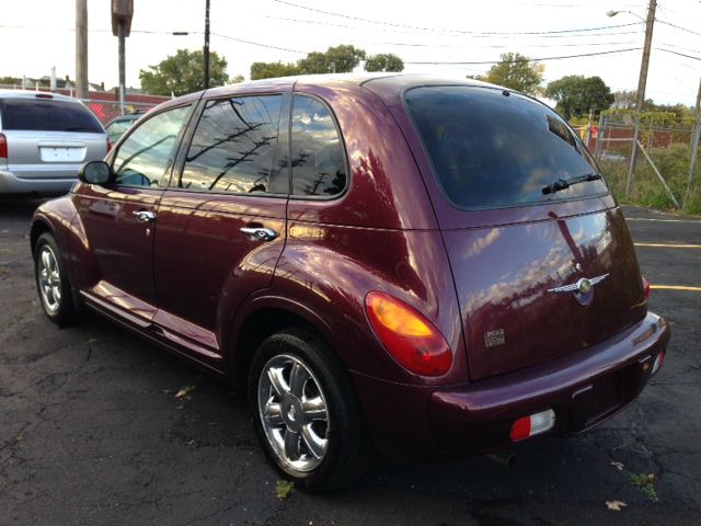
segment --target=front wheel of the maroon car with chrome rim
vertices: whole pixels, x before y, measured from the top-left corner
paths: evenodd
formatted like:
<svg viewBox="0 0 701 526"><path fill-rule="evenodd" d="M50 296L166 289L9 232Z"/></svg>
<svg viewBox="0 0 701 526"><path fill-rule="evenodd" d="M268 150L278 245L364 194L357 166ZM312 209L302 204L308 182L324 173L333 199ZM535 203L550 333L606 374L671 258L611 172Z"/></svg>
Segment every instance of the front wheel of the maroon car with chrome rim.
<svg viewBox="0 0 701 526"><path fill-rule="evenodd" d="M74 320L76 309L68 276L61 263L54 236L39 236L34 248L34 274L42 307L46 316L59 325Z"/></svg>

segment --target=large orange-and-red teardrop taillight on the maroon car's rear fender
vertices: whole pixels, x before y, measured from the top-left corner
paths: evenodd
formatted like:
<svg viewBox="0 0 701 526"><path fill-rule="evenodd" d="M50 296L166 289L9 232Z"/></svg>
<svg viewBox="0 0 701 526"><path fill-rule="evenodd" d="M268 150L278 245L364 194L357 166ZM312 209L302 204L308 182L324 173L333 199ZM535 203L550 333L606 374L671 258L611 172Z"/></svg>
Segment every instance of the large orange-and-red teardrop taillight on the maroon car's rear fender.
<svg viewBox="0 0 701 526"><path fill-rule="evenodd" d="M422 376L440 376L452 365L452 353L438 329L406 304L384 293L365 298L370 325L403 367Z"/></svg>

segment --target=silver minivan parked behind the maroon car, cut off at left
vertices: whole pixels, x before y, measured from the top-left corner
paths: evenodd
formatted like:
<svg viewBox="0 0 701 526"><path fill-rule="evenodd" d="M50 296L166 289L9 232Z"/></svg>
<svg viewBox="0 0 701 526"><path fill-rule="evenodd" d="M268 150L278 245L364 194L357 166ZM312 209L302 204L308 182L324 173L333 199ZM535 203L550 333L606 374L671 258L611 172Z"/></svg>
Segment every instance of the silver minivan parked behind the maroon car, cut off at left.
<svg viewBox="0 0 701 526"><path fill-rule="evenodd" d="M78 99L0 90L0 195L66 193L107 149L102 124Z"/></svg>

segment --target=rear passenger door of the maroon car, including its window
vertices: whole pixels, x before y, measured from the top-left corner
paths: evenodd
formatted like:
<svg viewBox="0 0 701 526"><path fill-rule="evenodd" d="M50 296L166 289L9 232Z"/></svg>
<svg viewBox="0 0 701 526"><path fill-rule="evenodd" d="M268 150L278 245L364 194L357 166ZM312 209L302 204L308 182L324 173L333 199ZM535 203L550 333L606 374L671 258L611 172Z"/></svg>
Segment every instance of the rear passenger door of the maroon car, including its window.
<svg viewBox="0 0 701 526"><path fill-rule="evenodd" d="M153 322L170 344L216 367L237 307L269 285L285 244L289 179L279 151L289 95L202 106L159 208Z"/></svg>

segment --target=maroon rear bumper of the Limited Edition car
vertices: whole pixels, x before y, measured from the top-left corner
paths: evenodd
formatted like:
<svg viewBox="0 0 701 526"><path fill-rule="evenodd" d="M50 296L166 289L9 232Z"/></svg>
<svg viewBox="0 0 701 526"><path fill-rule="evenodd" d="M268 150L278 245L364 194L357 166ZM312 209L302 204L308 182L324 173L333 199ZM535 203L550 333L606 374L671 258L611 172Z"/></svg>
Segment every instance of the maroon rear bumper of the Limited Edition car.
<svg viewBox="0 0 701 526"><path fill-rule="evenodd" d="M586 351L474 384L437 389L363 378L366 385L358 387L370 388L375 398L361 395L383 450L428 456L496 450L513 445L510 427L521 416L553 409L549 433L570 435L618 413L640 395L669 334L667 322L648 313Z"/></svg>

